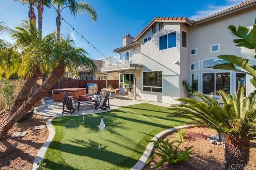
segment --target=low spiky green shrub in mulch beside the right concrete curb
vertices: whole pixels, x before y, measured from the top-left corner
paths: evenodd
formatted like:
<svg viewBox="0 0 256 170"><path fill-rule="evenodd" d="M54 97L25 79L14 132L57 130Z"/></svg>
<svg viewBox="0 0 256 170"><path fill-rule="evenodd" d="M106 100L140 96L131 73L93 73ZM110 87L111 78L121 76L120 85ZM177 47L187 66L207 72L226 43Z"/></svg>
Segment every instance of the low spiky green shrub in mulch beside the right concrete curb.
<svg viewBox="0 0 256 170"><path fill-rule="evenodd" d="M154 156L159 155L161 156L162 160L156 164L153 168L158 168L161 166L164 162L169 162L171 164L171 169L174 164L177 164L179 162L186 162L188 161L188 158L190 154L194 151L191 150L193 146L190 146L186 150L179 149L180 144L182 143L182 140L173 140L172 142L169 142L167 139L166 141L157 138L157 140L151 140L150 142L154 142L155 150ZM175 142L178 142L177 146L172 146Z"/></svg>

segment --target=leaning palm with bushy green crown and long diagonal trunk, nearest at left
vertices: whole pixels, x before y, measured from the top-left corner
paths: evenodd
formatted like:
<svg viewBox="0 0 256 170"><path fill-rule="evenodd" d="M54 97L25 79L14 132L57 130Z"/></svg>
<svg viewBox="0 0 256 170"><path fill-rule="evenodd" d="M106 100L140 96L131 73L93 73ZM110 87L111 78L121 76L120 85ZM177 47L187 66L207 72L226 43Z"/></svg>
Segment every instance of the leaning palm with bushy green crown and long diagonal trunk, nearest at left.
<svg viewBox="0 0 256 170"><path fill-rule="evenodd" d="M75 71L80 66L84 69L96 71L96 65L88 57L88 53L84 49L74 47L74 41L70 40L68 36L67 38L60 36L60 41L56 43L57 37L56 34L49 34L42 39L42 42L33 43L29 47L29 49L38 49L36 52L40 57L37 61L42 68L45 68L50 73L50 76L37 89L34 95L10 117L1 131L0 139L5 136L18 119L26 114L26 112L48 93L50 88L64 75L66 68ZM25 66L26 63L24 62Z"/></svg>

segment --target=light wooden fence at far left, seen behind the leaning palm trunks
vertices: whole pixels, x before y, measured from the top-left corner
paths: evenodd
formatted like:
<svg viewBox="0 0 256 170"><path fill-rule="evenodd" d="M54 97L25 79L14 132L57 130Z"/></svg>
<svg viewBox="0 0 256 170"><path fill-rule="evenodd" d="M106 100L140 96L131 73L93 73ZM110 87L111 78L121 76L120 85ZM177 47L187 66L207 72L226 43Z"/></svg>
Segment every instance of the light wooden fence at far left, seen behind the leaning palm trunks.
<svg viewBox="0 0 256 170"><path fill-rule="evenodd" d="M12 85L14 85L14 96L16 97L16 95L18 94L20 87L22 86L22 80L10 80L10 83ZM2 89L2 81L0 81L0 89ZM4 111L5 109L7 109L7 105L5 103L5 99L4 97L1 95L0 93L0 112Z"/></svg>

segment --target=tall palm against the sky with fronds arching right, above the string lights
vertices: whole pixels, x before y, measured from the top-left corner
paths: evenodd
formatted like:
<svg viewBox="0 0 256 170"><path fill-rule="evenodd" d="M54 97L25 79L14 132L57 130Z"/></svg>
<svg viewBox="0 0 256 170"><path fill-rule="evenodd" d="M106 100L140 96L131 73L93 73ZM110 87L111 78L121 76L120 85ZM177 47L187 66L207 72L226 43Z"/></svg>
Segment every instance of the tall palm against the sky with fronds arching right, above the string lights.
<svg viewBox="0 0 256 170"><path fill-rule="evenodd" d="M96 22L98 15L96 10L90 4L86 4L85 2L80 2L77 0L53 0L53 5L57 6L55 8L57 12L56 17L56 27L57 27L57 34L60 34L60 20L61 16L60 13L65 8L69 8L70 13L76 17L76 14L87 14L94 22Z"/></svg>

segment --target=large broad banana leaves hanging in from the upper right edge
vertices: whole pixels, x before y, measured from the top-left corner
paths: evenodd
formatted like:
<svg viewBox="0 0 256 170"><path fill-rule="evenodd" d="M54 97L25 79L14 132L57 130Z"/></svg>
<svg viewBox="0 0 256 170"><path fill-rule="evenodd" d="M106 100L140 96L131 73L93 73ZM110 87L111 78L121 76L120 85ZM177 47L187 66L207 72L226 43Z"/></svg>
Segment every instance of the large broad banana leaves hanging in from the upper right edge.
<svg viewBox="0 0 256 170"><path fill-rule="evenodd" d="M252 30L244 26L238 26L238 29L236 29L236 27L232 25L229 26L228 29L232 32L232 34L239 37L238 39L233 40L233 42L236 43L236 46L255 49L255 52L256 52L256 19L254 20L254 25ZM218 58L224 59L228 61L228 63L215 65L213 67L214 69L239 71L239 72L244 72L249 75L252 75L253 78L250 81L252 85L256 87L256 65L251 66L248 59L245 59L243 57L238 57L235 55L219 55ZM256 58L256 55L254 55L254 58ZM238 65L245 71L236 69L235 65Z"/></svg>

